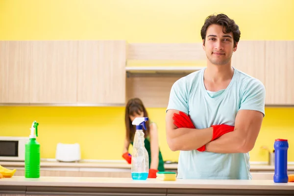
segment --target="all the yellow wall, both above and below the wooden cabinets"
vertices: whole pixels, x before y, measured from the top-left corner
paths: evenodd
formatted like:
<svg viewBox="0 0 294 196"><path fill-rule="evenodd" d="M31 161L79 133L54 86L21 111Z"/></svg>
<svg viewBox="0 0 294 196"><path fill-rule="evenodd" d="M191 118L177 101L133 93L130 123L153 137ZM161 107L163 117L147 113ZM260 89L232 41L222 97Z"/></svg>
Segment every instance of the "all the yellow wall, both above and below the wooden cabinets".
<svg viewBox="0 0 294 196"><path fill-rule="evenodd" d="M294 40L293 0L0 0L0 40L102 40L129 43L200 42L205 17L225 13L241 40ZM177 160L165 138L165 108L147 108L159 127L165 160ZM123 107L0 107L0 135L28 136L39 125L42 158L56 144L79 143L83 159L121 159ZM266 108L251 161L267 161L261 145L288 138L294 161L294 108ZM107 146L106 146L107 145Z"/></svg>

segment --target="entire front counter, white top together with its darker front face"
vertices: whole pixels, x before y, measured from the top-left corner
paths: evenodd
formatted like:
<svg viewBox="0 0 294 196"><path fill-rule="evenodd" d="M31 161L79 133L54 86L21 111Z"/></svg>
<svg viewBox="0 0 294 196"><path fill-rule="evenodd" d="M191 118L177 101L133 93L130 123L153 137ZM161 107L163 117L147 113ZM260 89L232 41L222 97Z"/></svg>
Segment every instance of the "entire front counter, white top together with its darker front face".
<svg viewBox="0 0 294 196"><path fill-rule="evenodd" d="M294 183L274 183L272 180L196 180L177 179L158 181L156 179L132 180L131 178L97 177L40 177L25 178L13 176L0 179L0 194L48 195L151 195L179 196L194 195L293 195Z"/></svg>

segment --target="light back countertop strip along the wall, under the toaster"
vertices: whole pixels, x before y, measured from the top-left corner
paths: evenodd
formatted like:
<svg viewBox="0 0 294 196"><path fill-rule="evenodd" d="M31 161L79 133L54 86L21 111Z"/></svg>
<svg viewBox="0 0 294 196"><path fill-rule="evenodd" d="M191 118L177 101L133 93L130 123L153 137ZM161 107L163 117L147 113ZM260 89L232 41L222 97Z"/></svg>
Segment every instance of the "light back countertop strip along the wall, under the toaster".
<svg viewBox="0 0 294 196"><path fill-rule="evenodd" d="M25 162L0 161L3 167L24 167ZM41 161L41 167L56 167L56 168L119 168L130 169L131 165L123 162L57 162L57 161ZM176 170L177 164L165 164L165 169ZM274 171L274 166L270 165L250 165L250 171ZM288 165L288 171L294 171L294 165Z"/></svg>

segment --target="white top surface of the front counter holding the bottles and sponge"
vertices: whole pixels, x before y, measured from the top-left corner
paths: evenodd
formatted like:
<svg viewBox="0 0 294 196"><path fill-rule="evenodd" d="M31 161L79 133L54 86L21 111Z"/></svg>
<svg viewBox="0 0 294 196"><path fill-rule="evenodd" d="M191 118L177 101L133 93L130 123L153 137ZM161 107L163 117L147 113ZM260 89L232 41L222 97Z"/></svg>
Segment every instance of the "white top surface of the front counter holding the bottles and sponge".
<svg viewBox="0 0 294 196"><path fill-rule="evenodd" d="M293 190L294 183L274 183L272 180L195 180L145 181L131 178L96 177L40 177L25 178L13 176L1 178L0 186L43 186L43 187L124 187L124 188L165 188L165 189L250 189L250 190ZM294 193L294 192L293 192Z"/></svg>

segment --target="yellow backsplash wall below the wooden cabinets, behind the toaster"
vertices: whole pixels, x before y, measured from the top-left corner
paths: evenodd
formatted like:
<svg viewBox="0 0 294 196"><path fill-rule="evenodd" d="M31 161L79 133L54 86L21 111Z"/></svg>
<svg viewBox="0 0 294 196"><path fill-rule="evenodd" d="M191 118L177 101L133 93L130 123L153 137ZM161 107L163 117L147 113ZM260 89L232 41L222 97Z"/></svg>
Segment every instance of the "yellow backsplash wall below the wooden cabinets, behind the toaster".
<svg viewBox="0 0 294 196"><path fill-rule="evenodd" d="M151 121L157 123L159 145L164 160L177 161L166 142L166 108L147 108ZM250 161L268 161L274 139L289 140L288 161L294 161L294 108L266 108L262 128ZM82 159L123 160L124 107L33 107L1 106L0 136L29 136L33 121L39 123L38 138L42 158L55 158L57 143L79 143ZM131 151L131 148L130 148Z"/></svg>

